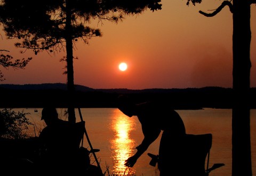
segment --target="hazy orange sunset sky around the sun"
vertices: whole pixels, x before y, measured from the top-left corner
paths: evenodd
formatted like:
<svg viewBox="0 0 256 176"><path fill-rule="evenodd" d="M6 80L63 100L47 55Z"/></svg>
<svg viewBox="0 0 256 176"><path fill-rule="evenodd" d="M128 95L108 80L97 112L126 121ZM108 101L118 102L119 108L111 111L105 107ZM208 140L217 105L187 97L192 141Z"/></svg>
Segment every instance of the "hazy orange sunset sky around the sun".
<svg viewBox="0 0 256 176"><path fill-rule="evenodd" d="M120 23L92 21L102 37L74 46L74 82L93 89L172 89L232 87L233 17L226 6L214 17L222 1L208 0L196 6L186 0L162 0L162 10L126 16ZM251 6L251 87L256 87L256 6ZM1 84L66 83L65 51L35 55L14 46L4 33L0 49L15 59L32 57L25 69L4 69ZM1 38L0 38L1 39ZM121 71L118 65L127 63Z"/></svg>

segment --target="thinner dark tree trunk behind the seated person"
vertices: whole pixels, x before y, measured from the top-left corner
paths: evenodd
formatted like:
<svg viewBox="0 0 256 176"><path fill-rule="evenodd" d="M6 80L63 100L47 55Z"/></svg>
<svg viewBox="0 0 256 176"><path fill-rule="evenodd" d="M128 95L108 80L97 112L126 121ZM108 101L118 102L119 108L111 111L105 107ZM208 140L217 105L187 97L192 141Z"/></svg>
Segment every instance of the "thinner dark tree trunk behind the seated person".
<svg viewBox="0 0 256 176"><path fill-rule="evenodd" d="M74 106L74 67L73 67L73 43L72 43L72 27L71 27L71 11L69 9L69 0L66 1L66 50L67 50L67 87L68 87L68 121L76 122L75 106Z"/></svg>

